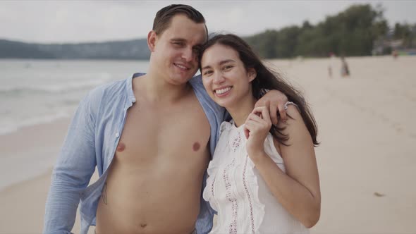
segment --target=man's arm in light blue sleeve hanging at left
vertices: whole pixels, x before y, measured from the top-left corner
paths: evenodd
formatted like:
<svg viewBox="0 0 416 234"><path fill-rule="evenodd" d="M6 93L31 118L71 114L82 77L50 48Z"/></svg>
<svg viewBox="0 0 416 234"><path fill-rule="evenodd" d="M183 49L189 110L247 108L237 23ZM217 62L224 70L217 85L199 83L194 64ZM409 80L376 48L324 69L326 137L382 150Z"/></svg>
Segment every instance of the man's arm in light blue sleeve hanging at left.
<svg viewBox="0 0 416 234"><path fill-rule="evenodd" d="M44 233L69 233L82 191L96 165L95 115L90 94L80 102L52 173L44 217Z"/></svg>

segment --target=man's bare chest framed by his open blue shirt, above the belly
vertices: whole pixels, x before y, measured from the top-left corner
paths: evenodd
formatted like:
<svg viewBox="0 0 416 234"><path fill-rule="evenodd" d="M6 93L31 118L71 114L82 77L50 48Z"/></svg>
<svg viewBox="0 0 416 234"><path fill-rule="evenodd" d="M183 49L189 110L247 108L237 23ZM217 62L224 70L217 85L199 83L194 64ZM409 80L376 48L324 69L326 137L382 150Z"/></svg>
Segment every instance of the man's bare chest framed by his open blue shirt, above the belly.
<svg viewBox="0 0 416 234"><path fill-rule="evenodd" d="M210 128L201 106L171 111L137 107L128 111L116 157L152 161L206 154Z"/></svg>

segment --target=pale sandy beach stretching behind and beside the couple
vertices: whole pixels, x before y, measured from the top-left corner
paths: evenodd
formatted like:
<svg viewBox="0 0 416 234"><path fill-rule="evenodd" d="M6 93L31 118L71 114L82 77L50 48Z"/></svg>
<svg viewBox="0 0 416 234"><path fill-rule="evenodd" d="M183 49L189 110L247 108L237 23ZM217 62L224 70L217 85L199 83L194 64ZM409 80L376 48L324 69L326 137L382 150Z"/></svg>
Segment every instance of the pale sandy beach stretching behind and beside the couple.
<svg viewBox="0 0 416 234"><path fill-rule="evenodd" d="M305 92L318 123L322 214L311 233L416 233L416 56L346 60L349 78L338 75L338 58L333 78L329 58L270 61ZM68 123L1 135L0 156L56 158ZM35 178L16 175L0 190L0 233L42 233L50 176L51 168ZM77 216L73 233L79 223Z"/></svg>

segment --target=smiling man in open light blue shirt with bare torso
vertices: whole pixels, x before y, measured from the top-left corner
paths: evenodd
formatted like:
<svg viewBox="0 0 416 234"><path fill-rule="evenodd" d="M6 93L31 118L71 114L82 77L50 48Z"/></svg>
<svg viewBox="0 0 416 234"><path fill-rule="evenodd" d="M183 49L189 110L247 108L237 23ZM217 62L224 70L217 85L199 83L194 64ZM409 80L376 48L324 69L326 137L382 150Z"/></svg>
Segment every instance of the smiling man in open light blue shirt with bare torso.
<svg viewBox="0 0 416 234"><path fill-rule="evenodd" d="M200 77L191 80L206 40L200 12L162 8L147 36L148 73L97 87L80 102L54 168L44 233L69 233L78 202L81 233L90 225L96 233L211 230L201 191L224 109ZM283 94L267 96L283 110ZM87 187L95 166L99 180Z"/></svg>

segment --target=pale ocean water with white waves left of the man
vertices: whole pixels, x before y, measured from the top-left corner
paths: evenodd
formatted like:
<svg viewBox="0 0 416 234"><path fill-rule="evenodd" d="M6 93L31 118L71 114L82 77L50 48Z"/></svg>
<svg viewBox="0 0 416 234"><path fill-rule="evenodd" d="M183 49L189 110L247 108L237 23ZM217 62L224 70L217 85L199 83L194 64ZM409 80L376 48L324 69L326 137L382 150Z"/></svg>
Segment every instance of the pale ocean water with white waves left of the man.
<svg viewBox="0 0 416 234"><path fill-rule="evenodd" d="M135 72L148 61L0 60L0 135L73 115L89 90Z"/></svg>

